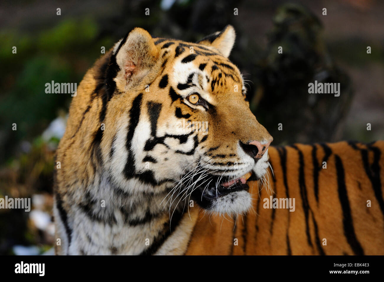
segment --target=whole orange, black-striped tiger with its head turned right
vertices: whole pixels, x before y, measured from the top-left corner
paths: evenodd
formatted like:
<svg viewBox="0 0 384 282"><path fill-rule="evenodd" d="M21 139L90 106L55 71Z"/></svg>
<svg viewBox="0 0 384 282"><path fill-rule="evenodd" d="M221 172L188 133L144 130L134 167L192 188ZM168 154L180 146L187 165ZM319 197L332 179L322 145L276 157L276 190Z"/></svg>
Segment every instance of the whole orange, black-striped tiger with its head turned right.
<svg viewBox="0 0 384 282"><path fill-rule="evenodd" d="M55 254L383 254L384 143L270 146L234 43L231 25L197 43L134 28L87 71L56 150Z"/></svg>

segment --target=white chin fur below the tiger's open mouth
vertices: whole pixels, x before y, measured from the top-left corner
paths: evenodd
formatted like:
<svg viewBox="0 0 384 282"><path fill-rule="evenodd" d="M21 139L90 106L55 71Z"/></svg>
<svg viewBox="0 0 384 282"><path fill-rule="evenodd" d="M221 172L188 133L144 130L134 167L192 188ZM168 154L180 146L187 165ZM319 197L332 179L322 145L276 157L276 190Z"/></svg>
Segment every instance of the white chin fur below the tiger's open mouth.
<svg viewBox="0 0 384 282"><path fill-rule="evenodd" d="M247 191L237 191L215 199L209 210L220 215L237 214L247 212L251 206L251 194Z"/></svg>

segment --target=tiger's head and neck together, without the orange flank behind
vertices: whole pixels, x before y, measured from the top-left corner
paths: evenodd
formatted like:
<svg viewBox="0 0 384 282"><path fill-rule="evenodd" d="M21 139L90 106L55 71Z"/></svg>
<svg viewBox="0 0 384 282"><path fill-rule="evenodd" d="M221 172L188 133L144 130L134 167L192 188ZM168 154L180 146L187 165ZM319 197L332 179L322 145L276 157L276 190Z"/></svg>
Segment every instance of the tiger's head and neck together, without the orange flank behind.
<svg viewBox="0 0 384 282"><path fill-rule="evenodd" d="M228 59L234 43L230 25L197 43L134 28L89 69L56 152L57 254L182 254L190 199L250 209L273 138Z"/></svg>

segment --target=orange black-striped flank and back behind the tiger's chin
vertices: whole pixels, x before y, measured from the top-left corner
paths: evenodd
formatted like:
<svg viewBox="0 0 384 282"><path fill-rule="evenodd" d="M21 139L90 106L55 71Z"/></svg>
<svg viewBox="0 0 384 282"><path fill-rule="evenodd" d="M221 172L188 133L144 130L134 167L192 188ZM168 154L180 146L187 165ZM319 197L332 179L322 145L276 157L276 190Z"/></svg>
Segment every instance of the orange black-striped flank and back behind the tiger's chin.
<svg viewBox="0 0 384 282"><path fill-rule="evenodd" d="M252 182L253 208L235 219L201 213L186 254L383 255L383 150L384 141L270 147L270 190ZM270 196L295 198L295 210L265 208Z"/></svg>

